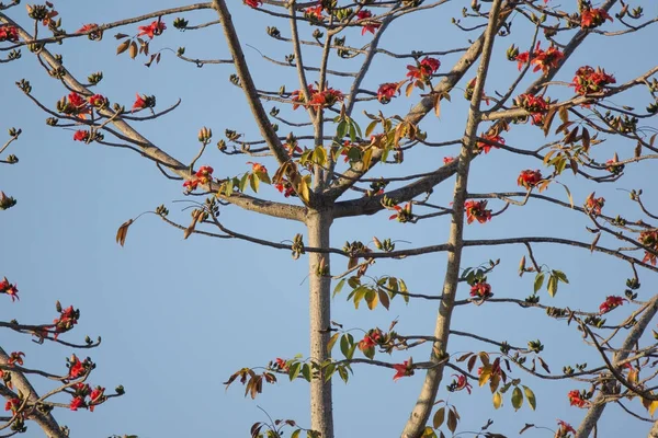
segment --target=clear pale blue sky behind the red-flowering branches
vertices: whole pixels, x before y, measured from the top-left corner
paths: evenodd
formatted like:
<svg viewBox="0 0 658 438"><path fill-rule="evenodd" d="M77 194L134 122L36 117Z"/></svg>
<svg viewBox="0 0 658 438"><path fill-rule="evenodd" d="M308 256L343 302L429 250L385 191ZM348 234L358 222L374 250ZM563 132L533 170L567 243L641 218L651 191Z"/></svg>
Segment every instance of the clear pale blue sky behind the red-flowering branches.
<svg viewBox="0 0 658 438"><path fill-rule="evenodd" d="M551 0L554 2L555 0ZM156 8L179 5L180 1L125 1L87 2L60 1L64 26L72 32L87 23L106 23L136 16ZM444 50L464 47L476 33L456 31L451 18L461 15L461 8L468 2L453 2L444 8L413 14L395 22L383 38L383 47L402 53L416 50ZM574 11L576 1L564 1L564 8ZM656 16L658 5L654 1L636 1L644 5L646 16ZM277 90L281 85L298 88L294 69L275 67L261 58L260 53L276 59L292 53L285 43L266 36L265 26L276 25L284 36L290 35L286 22L264 16L231 0L229 8L242 38L251 71L261 90ZM616 12L616 9L614 10ZM26 23L24 9L18 9L19 21ZM11 12L16 18L16 12ZM216 20L212 11L184 14L191 24ZM232 67L194 65L175 59L174 51L185 46L185 55L194 58L228 58L224 36L218 26L203 32L180 33L172 26L172 18L166 18L168 28L151 43L151 51L163 48L160 65L147 69L143 60L131 60L126 54L115 56L115 32L109 32L101 42L86 38L67 41L60 48L65 66L79 79L102 70L103 82L98 91L112 102L132 105L135 93L155 94L157 108L164 108L182 99L173 113L152 122L136 124L147 138L182 162L189 162L197 152L196 132L202 126L211 127L214 141L225 129L245 134L245 138L259 138L251 120L241 90L228 82ZM147 24L147 23L141 23ZM120 32L134 34L137 24ZM617 28L619 23L606 24ZM531 34L519 16L513 21L511 37L499 38L486 90L504 92L515 77L515 62L507 61L504 50L515 43L525 49ZM303 25L302 36L310 39L313 28ZM349 33L347 44L362 46L372 36ZM564 37L561 37L564 38ZM591 36L570 59L556 78L570 81L574 71L582 65L602 66L608 72L625 82L655 66L651 42L658 38L655 26L639 35L623 37ZM543 39L542 39L543 41ZM560 39L564 41L564 39ZM543 43L546 46L546 43ZM173 51L169 50L172 49ZM58 47L53 47L57 53ZM317 51L305 48L306 61L317 61ZM441 57L446 71L458 55ZM404 59L377 57L368 72L365 88L376 90L379 83L405 78ZM355 71L356 61L330 59L330 68ZM55 318L55 301L73 304L81 310L77 328L66 339L81 341L84 335L101 335L101 347L89 351L98 364L90 383L107 389L116 384L126 388L126 395L97 408L94 413L57 411L61 424L71 427L72 437L106 437L112 434L135 434L140 438L156 437L238 437L248 436L251 424L273 418L292 418L308 426L308 390L304 381L288 382L281 379L276 385L266 385L256 401L242 397L242 389L234 385L225 391L223 382L242 367L265 366L276 357L291 358L296 354L308 355L308 297L306 275L307 258L293 261L286 251L254 246L239 241L214 240L193 235L183 240L183 233L156 216L140 218L129 229L125 247L114 242L118 226L146 210L166 204L171 218L181 223L190 220L180 182L166 180L151 162L127 150L114 150L95 143L72 141L73 130L54 129L44 123L41 112L14 82L24 78L31 81L33 94L43 103L55 106L67 94L58 81L47 77L38 68L34 57L23 50L23 59L0 67L0 128L12 126L23 129L19 142L8 152L20 158L16 165L4 165L0 171L0 189L18 198L19 204L0 215L2 257L0 276L16 281L21 301L8 300L0 307L0 320L18 319L24 323L47 323ZM467 78L474 77L468 73ZM534 79L534 74L529 76ZM310 80L315 80L313 74ZM349 82L330 78L330 85L348 90ZM461 88L464 84L460 84ZM570 91L569 91L570 92ZM568 96L569 92L555 91L553 97ZM464 130L467 102L462 90L452 93L452 102L444 102L441 118L428 116L421 128L432 141L457 139ZM405 114L419 99L417 91L411 97L399 97L386 107L364 106L370 111L382 108L387 115ZM645 107L650 101L646 93L632 93L627 100L614 100L616 104ZM269 111L272 103L265 103ZM305 113L296 113L277 104L285 115L295 122L305 122ZM361 110L361 108L360 108ZM354 114L365 126L362 113ZM656 127L653 119L643 120ZM3 130L4 131L4 130ZM280 132L290 129L281 127ZM296 131L296 134L299 131ZM300 134L300 132L299 132ZM506 140L522 149L534 149L544 141L537 128L513 127ZM2 138L0 138L2 141ZM308 143L302 146L310 147ZM621 159L633 154L635 145L616 139L597 146L593 155L598 161L612 158L616 151ZM373 176L401 173L421 173L435 169L445 155L457 154L456 147L416 148L407 153L404 166L387 166L373 171ZM236 175L249 170L245 157L227 157L214 147L200 164L209 164L215 176ZM274 161L262 160L270 173L275 171ZM597 191L608 200L605 211L639 218L627 193L617 188L645 188L646 201L654 211L658 203L650 171L650 161L629 166L622 180L614 185L594 186L564 174L559 181L569 185L576 204ZM523 169L537 169L541 163L530 158L519 158L501 150L478 158L473 166L469 191L517 191L515 180ZM548 174L548 171L545 171ZM453 180L434 191L432 200L446 206L450 203ZM282 200L272 187L263 187L262 196ZM547 195L566 200L564 189L554 184ZM358 196L358 195L350 195ZM501 204L490 203L495 210ZM400 224L388 220L389 214L338 220L332 229L332 245L342 246L345 241L367 242L373 235L400 240L398 249L442 243L447 237L446 217L421 221L418 224ZM235 207L224 208L222 219L236 231L271 241L292 239L303 232L303 226L284 220L258 217ZM585 226L588 220L581 214L532 200L524 208L512 207L495 217L487 224L466 228L467 239L503 238L515 235L559 235L589 242L592 238ZM407 241L410 243L406 243ZM615 247L617 242L602 238L600 244ZM465 253L464 266L477 266L488 260L501 260L500 266L489 276L496 297L525 298L532 291L530 276L519 278L517 266L523 247L489 246L470 249ZM556 307L570 307L595 311L609 295L623 295L625 279L631 276L626 265L590 254L585 250L537 245L535 254L552 268L564 270L570 280L560 285L555 299L541 292L542 302ZM343 270L347 261L333 257L333 270ZM411 291L438 293L443 280L444 254L430 254L396 262L377 262L368 272L373 276L394 275L405 279ZM640 272L639 299L648 299L657 281L655 276ZM460 292L467 296L467 288ZM347 291L333 300L332 319L345 327L368 330L387 328L394 319L399 320L396 330L402 334L430 334L436 313L435 302L412 301L405 306L401 299L393 301L389 311L377 308L368 311L354 310L345 301ZM633 309L624 306L609 315L609 321L622 321ZM504 304L486 303L481 307L463 307L455 311L454 328L507 339L512 345L525 345L540 338L545 345L542 355L554 372L563 366L588 361L598 362L592 350L580 342L576 327L547 319L541 310L520 310ZM354 332L360 337L359 331ZM26 353L25 366L65 372L65 358L69 348L31 343L27 337L3 333L2 347L9 351ZM452 338L451 353L490 350L486 345ZM84 356L84 351L79 353ZM428 348L413 351L416 361L427 360ZM377 358L401 362L409 353ZM389 369L374 369L355 365L354 376L348 385L334 382L334 410L337 437L399 436L420 389L423 373L392 380ZM462 431L477 431L488 418L495 423L492 431L515 434L525 423L554 428L555 419L561 418L577 425L585 411L569 407L566 396L571 389L586 389L578 382L557 381L546 384L513 371L512 377L523 379L537 396L537 412L524 405L514 413L509 395L498 411L491 406L488 388L476 388L472 395L465 392L450 395L462 415ZM450 372L441 387L440 399L447 393ZM476 383L476 382L474 382ZM477 384L475 384L477 387ZM41 390L52 388L39 382ZM60 401L66 402L63 397ZM645 415L637 400L626 403ZM647 424L629 422L620 408L611 406L602 420L602 435L642 436ZM533 430L527 436L551 437L552 433ZM36 426L27 436L37 437Z"/></svg>

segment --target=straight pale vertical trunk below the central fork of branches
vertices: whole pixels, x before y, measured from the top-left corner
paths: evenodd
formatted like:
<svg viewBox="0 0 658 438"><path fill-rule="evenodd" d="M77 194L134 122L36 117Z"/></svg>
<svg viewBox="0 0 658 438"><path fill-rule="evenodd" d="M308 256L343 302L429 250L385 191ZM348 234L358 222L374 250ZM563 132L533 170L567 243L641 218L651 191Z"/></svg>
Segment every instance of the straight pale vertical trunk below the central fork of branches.
<svg viewBox="0 0 658 438"><path fill-rule="evenodd" d="M333 221L330 210L309 210L306 219L308 245L329 247L329 229ZM310 358L320 366L318 378L310 381L310 428L322 438L333 438L333 412L331 402L331 380L325 382L321 365L329 358L329 321L331 318L331 278L329 254L310 253L309 264L309 312L310 312Z"/></svg>

